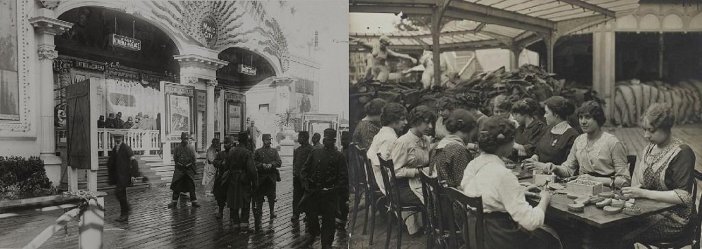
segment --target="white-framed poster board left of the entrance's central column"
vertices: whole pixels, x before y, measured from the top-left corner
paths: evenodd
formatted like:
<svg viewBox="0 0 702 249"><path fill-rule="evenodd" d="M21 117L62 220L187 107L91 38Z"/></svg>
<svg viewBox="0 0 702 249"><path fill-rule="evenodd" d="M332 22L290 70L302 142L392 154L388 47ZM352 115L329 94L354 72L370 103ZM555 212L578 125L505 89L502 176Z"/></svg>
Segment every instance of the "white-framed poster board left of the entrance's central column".
<svg viewBox="0 0 702 249"><path fill-rule="evenodd" d="M180 133L194 130L195 88L161 81L164 92L165 119L162 119L162 141L180 142ZM165 132L164 132L165 131Z"/></svg>

